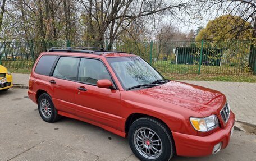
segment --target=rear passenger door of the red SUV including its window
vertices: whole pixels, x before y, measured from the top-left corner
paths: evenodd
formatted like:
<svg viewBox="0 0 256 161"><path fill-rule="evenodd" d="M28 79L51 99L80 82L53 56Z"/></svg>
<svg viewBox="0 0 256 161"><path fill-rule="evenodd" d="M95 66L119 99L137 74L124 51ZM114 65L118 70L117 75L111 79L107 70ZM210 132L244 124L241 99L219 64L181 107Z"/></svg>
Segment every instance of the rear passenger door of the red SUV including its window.
<svg viewBox="0 0 256 161"><path fill-rule="evenodd" d="M48 77L47 84L58 111L76 114L74 93L79 62L80 58L77 57L60 57L52 75Z"/></svg>

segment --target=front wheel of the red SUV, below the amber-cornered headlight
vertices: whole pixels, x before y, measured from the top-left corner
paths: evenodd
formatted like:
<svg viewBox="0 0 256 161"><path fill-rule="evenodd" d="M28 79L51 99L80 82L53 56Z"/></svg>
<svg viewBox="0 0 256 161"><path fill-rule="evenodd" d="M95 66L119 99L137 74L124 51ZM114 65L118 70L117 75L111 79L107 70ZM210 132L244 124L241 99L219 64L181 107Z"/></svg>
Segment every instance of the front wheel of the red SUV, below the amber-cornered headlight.
<svg viewBox="0 0 256 161"><path fill-rule="evenodd" d="M132 152L137 158L144 161L170 160L175 154L175 145L172 135L167 129L168 127L157 119L150 117L137 119L130 126L128 134ZM150 135L148 135L149 133Z"/></svg>

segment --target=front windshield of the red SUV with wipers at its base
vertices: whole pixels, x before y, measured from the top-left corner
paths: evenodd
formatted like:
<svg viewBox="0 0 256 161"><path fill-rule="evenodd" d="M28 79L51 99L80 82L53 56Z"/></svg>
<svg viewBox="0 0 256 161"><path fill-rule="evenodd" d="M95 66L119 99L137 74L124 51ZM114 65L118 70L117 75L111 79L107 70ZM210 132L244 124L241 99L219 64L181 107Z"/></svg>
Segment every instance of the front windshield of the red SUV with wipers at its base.
<svg viewBox="0 0 256 161"><path fill-rule="evenodd" d="M124 89L150 84L163 77L140 57L107 58Z"/></svg>

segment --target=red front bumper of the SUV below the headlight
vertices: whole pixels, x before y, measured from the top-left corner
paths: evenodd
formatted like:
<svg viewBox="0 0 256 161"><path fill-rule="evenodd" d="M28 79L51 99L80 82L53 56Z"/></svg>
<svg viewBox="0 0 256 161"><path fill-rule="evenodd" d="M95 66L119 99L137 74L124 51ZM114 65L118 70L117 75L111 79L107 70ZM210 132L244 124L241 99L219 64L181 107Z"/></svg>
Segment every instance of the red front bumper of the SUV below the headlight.
<svg viewBox="0 0 256 161"><path fill-rule="evenodd" d="M207 136L195 136L172 132L175 140L177 155L187 157L199 157L211 155L214 145L222 142L221 149L227 147L230 141L231 129L235 123L234 113L230 113L230 118L225 128L219 128Z"/></svg>

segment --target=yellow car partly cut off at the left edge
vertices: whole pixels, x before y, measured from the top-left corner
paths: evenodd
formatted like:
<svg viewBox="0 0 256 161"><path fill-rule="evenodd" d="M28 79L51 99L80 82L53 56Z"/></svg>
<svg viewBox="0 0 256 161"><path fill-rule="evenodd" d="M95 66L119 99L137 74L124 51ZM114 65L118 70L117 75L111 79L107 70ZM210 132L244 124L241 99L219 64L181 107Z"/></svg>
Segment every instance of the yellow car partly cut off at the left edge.
<svg viewBox="0 0 256 161"><path fill-rule="evenodd" d="M6 67L0 65L0 90L8 90L13 86L12 74Z"/></svg>

